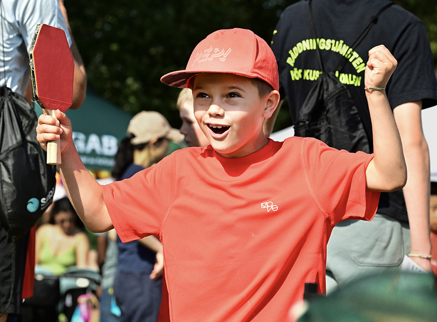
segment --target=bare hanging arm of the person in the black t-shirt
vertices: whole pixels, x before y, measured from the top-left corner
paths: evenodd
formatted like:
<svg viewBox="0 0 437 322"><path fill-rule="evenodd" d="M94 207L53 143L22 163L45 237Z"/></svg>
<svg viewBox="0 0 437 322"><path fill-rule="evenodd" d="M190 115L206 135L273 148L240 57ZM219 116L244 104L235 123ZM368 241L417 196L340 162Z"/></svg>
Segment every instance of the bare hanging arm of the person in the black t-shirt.
<svg viewBox="0 0 437 322"><path fill-rule="evenodd" d="M403 155L408 179L403 196L408 214L411 236L411 254L431 254L429 238L429 149L422 131L422 102L408 102L393 110L402 139ZM420 257L410 257L420 267L431 271L431 262Z"/></svg>

